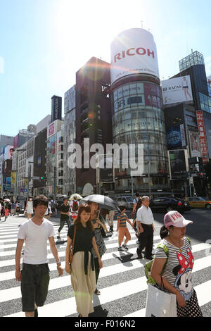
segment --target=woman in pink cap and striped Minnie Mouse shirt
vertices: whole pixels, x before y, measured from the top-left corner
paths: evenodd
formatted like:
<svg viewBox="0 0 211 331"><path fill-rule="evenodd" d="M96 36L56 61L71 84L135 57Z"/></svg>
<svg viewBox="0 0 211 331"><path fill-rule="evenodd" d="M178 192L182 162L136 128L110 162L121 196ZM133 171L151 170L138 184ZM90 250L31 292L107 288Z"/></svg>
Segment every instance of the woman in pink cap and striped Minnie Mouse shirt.
<svg viewBox="0 0 211 331"><path fill-rule="evenodd" d="M202 317L196 292L191 282L193 255L190 239L184 237L186 226L192 224L178 211L165 214L160 229L161 245L155 250L151 277L158 285L177 296L178 317ZM163 246L167 247L168 256Z"/></svg>

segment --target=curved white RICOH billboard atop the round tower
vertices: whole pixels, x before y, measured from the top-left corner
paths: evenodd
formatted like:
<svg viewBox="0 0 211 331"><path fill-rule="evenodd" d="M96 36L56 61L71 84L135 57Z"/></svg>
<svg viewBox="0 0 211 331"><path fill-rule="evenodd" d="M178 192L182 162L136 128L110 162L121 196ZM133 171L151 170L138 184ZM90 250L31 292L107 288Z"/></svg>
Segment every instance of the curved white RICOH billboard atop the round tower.
<svg viewBox="0 0 211 331"><path fill-rule="evenodd" d="M157 48L153 35L144 29L120 32L110 46L110 81L133 74L159 77Z"/></svg>

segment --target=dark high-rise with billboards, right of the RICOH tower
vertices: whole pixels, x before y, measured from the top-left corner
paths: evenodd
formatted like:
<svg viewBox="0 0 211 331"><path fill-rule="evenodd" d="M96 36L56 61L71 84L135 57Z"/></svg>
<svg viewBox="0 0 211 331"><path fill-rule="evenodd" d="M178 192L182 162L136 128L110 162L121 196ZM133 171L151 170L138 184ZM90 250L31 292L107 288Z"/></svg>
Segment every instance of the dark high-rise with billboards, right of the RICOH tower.
<svg viewBox="0 0 211 331"><path fill-rule="evenodd" d="M172 193L206 196L206 175L201 174L211 155L211 93L203 55L192 52L179 61L179 69L180 73L165 81L163 88L167 147L171 151L183 149L187 164L184 175L178 173L172 180Z"/></svg>

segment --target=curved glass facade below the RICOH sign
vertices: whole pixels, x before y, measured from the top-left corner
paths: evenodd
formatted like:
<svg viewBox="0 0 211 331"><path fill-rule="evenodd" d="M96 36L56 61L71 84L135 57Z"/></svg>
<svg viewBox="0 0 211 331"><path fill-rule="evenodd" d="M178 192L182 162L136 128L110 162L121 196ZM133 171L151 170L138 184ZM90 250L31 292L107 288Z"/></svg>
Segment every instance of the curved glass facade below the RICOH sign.
<svg viewBox="0 0 211 331"><path fill-rule="evenodd" d="M143 176L130 177L130 169L115 170L115 190L158 192L168 187L165 117L160 85L149 77L128 77L113 86L113 143L143 144Z"/></svg>

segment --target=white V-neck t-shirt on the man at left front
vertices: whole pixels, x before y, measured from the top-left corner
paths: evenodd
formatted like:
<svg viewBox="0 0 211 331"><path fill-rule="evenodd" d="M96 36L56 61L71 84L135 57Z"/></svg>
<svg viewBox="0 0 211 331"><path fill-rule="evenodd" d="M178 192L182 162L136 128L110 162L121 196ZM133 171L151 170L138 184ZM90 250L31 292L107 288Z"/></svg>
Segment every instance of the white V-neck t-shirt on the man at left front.
<svg viewBox="0 0 211 331"><path fill-rule="evenodd" d="M44 218L41 225L36 225L26 220L18 232L18 239L25 239L23 263L43 264L48 263L47 242L49 237L55 235L53 224Z"/></svg>

